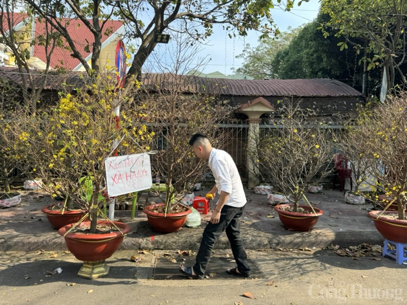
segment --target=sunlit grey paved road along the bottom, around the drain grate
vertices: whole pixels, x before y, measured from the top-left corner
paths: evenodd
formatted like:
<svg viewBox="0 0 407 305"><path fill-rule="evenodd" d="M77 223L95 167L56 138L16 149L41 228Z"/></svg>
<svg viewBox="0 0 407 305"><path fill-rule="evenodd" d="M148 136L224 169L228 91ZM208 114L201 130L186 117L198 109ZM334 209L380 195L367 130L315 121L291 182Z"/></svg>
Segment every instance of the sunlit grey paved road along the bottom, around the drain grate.
<svg viewBox="0 0 407 305"><path fill-rule="evenodd" d="M389 258L338 256L331 250L249 250L266 279L152 280L157 256L176 251L117 251L107 277L76 276L81 263L64 251L2 252L0 304L405 304L406 265ZM137 254L136 263L130 257ZM230 255L216 250L214 255ZM62 273L48 275L61 267ZM223 272L223 270L219 270ZM243 293L250 292L256 299Z"/></svg>

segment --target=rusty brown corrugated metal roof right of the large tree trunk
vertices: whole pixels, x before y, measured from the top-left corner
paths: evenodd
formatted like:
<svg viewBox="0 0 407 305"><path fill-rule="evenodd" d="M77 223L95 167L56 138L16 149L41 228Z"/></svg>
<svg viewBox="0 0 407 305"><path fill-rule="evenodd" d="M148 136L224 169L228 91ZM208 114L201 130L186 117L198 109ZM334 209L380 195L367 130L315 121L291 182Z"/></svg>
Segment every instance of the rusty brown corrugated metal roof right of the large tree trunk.
<svg viewBox="0 0 407 305"><path fill-rule="evenodd" d="M229 96L276 96L276 97L355 97L362 96L358 90L334 79L224 79L185 76L185 92L211 93ZM173 79L169 74L146 74L142 83L160 88Z"/></svg>

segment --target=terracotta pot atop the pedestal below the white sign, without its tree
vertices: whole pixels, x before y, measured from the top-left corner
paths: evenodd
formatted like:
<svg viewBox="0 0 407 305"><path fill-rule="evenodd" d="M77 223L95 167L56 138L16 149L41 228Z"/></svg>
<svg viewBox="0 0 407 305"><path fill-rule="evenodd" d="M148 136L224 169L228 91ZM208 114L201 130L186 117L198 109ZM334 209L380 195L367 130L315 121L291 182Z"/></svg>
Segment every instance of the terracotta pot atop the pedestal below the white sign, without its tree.
<svg viewBox="0 0 407 305"><path fill-rule="evenodd" d="M81 222L78 227L89 227L90 221ZM74 225L70 224L58 230L61 236L65 237L65 243L71 253L82 261L101 261L109 258L122 245L123 237L130 231L127 224L113 222L122 231L114 231L104 234L84 234L82 232L65 233ZM98 225L113 226L110 221L98 221Z"/></svg>

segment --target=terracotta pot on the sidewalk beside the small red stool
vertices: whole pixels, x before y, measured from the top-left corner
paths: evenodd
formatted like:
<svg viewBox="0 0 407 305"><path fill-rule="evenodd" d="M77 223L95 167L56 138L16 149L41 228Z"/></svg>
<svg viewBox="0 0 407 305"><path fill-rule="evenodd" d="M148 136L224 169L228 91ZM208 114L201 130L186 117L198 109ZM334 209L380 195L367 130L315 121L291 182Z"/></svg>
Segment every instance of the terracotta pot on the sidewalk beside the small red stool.
<svg viewBox="0 0 407 305"><path fill-rule="evenodd" d="M143 212L147 215L147 219L153 229L161 233L171 233L178 231L187 221L187 215L192 211L191 209L185 212L167 214L155 213L150 211L155 206L165 205L165 203L157 203L144 207Z"/></svg>

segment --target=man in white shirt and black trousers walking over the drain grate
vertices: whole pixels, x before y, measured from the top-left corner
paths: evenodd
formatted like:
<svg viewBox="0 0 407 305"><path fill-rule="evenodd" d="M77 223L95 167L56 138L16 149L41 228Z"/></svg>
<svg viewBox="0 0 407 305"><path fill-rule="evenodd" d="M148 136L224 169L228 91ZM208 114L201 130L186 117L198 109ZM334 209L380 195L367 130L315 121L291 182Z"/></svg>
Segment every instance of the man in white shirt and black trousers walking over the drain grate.
<svg viewBox="0 0 407 305"><path fill-rule="evenodd" d="M226 231L231 250L237 267L228 269L231 275L249 277L250 268L247 265L247 254L240 238L240 217L246 204L246 195L242 180L235 162L224 150L212 147L204 134L194 134L189 145L195 155L202 159L209 159L209 167L215 177L215 186L207 194L212 198L218 192L219 200L212 212L211 220L202 234L202 240L196 255L196 263L192 267L180 266L180 272L187 277L203 278L212 249L223 231Z"/></svg>

